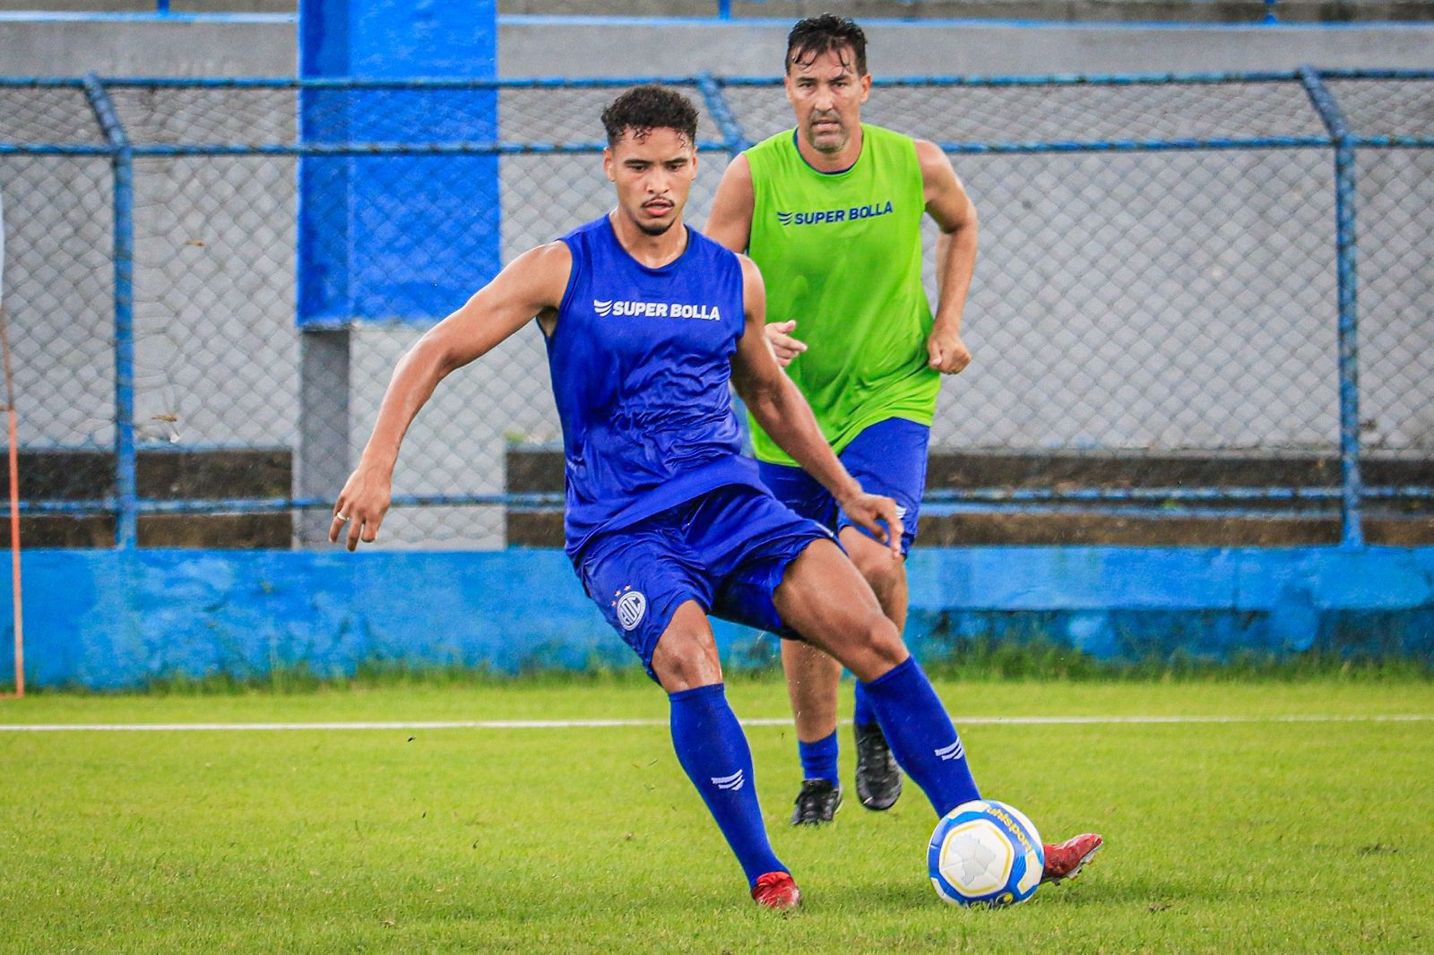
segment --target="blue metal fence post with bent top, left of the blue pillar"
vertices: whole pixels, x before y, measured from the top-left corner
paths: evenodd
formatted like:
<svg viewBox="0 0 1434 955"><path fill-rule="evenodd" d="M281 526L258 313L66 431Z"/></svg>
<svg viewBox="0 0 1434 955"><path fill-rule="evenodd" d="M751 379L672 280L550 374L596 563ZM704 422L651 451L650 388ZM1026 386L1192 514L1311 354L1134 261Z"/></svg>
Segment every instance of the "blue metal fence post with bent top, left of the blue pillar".
<svg viewBox="0 0 1434 955"><path fill-rule="evenodd" d="M138 541L135 478L135 155L115 103L99 77L85 77L85 95L105 130L115 169L115 546Z"/></svg>

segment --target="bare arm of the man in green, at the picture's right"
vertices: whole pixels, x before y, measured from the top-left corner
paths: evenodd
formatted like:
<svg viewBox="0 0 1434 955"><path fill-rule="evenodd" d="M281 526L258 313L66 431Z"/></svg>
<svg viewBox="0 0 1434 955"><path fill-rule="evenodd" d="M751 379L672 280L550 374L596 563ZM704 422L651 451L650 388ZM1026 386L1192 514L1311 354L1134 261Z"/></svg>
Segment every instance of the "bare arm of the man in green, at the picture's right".
<svg viewBox="0 0 1434 955"><path fill-rule="evenodd" d="M934 142L916 141L916 159L926 198L926 212L935 219L936 239L936 320L926 338L932 369L955 374L971 363L971 351L961 340L961 315L977 265L977 209L971 204L946 153Z"/></svg>

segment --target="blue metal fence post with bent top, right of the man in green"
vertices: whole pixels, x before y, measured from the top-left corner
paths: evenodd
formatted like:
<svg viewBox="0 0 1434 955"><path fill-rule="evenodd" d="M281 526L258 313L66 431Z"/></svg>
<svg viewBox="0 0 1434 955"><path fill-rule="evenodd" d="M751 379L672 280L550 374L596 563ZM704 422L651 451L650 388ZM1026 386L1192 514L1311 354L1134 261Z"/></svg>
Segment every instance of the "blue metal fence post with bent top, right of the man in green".
<svg viewBox="0 0 1434 955"><path fill-rule="evenodd" d="M1339 105L1319 73L1311 66L1299 69L1309 100L1329 130L1335 148L1335 267L1339 282L1339 470L1344 493L1341 545L1364 546L1359 522L1359 350L1358 350L1358 274L1355 271L1355 149Z"/></svg>

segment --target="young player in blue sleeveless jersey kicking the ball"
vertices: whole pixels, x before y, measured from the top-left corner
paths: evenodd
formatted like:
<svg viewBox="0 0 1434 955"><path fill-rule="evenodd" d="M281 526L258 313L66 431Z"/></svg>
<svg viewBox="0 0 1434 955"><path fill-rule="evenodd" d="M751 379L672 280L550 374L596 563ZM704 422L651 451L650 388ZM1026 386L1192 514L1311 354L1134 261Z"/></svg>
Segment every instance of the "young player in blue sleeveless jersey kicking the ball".
<svg viewBox="0 0 1434 955"><path fill-rule="evenodd" d="M763 334L761 277L683 224L697 112L642 86L604 113L617 208L513 260L399 361L330 539L377 536L403 433L437 383L536 317L564 429L566 551L588 595L667 691L673 747L751 896L800 902L771 850L751 753L707 615L787 627L866 684L936 812L977 797L941 701L829 531L779 503L739 455L728 381L773 440L876 539L896 505L832 453ZM885 525L885 526L883 526ZM898 542L889 541L888 559Z"/></svg>

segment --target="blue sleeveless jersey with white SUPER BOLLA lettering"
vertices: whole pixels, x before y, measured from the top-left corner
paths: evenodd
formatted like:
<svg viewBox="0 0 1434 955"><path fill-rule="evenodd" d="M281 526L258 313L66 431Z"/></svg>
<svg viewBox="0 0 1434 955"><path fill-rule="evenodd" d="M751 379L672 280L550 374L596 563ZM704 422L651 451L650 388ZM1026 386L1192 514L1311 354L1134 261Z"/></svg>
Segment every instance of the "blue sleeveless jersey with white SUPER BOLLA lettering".
<svg viewBox="0 0 1434 955"><path fill-rule="evenodd" d="M728 390L746 324L737 257L687 229L687 250L648 268L605 215L562 241L572 275L548 369L566 459L564 535L576 562L595 533L761 480L741 456Z"/></svg>

